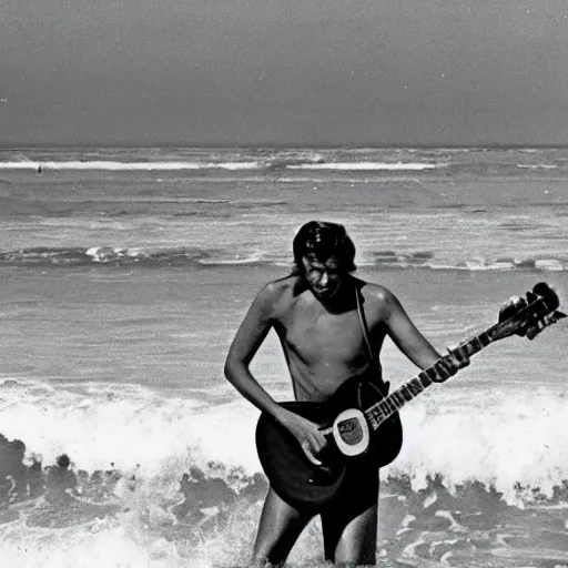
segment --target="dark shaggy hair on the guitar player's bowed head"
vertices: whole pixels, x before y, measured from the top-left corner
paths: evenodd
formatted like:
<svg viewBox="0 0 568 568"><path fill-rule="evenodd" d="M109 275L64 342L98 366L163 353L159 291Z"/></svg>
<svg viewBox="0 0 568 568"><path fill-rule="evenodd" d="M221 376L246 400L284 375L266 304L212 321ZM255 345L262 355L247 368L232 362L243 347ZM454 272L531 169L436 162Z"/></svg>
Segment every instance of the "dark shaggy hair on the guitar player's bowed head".
<svg viewBox="0 0 568 568"><path fill-rule="evenodd" d="M310 221L300 227L293 242L294 274L303 274L302 257L312 256L325 262L335 256L342 271L353 272L355 266L355 244L347 231L338 223L326 221Z"/></svg>

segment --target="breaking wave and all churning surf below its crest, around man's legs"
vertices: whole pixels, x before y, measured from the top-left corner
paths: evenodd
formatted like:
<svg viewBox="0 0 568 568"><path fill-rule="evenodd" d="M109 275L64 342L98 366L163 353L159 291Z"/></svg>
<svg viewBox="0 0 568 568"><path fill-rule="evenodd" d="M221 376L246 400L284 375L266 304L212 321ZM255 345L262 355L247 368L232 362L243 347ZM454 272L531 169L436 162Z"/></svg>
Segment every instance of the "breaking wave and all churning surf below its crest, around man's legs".
<svg viewBox="0 0 568 568"><path fill-rule="evenodd" d="M252 405L132 385L4 379L0 389L4 566L247 565L267 489ZM382 566L568 560L566 398L504 394L404 412L403 453L382 473ZM320 529L307 527L292 565L325 566Z"/></svg>

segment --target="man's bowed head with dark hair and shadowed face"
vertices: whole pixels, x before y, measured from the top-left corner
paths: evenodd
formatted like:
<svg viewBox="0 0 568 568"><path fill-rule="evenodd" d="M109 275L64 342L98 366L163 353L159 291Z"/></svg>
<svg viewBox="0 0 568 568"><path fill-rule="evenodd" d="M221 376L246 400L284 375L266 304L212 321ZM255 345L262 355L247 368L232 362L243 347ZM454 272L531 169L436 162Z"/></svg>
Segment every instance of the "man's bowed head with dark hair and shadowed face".
<svg viewBox="0 0 568 568"><path fill-rule="evenodd" d="M295 272L322 298L332 297L355 270L355 245L337 223L310 221L294 237L293 250Z"/></svg>

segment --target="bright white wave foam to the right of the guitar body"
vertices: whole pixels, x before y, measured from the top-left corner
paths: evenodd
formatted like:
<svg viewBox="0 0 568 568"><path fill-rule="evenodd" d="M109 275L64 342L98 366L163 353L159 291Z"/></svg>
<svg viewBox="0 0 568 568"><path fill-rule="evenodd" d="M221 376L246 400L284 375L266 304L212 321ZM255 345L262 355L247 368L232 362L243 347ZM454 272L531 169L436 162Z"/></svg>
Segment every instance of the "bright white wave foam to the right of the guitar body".
<svg viewBox="0 0 568 568"><path fill-rule="evenodd" d="M566 396L540 387L496 389L463 407L444 398L403 410L407 437L389 471L410 475L415 489L440 473L450 486L478 480L518 504L516 484L550 495L568 479Z"/></svg>

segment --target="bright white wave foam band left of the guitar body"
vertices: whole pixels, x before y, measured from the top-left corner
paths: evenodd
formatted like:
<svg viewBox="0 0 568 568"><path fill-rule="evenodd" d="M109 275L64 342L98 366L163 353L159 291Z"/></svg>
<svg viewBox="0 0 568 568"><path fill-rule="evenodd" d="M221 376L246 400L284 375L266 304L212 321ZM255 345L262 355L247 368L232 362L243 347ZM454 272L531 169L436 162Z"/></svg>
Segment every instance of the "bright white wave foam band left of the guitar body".
<svg viewBox="0 0 568 568"><path fill-rule="evenodd" d="M183 468L189 455L203 467L213 460L251 474L258 470L254 449L244 442L253 439L256 413L244 402L210 406L191 396L168 398L129 385L81 390L38 390L37 384L4 390L0 433L23 439L47 463L65 452L88 470L111 462L123 470L140 464L153 477L172 460Z"/></svg>

